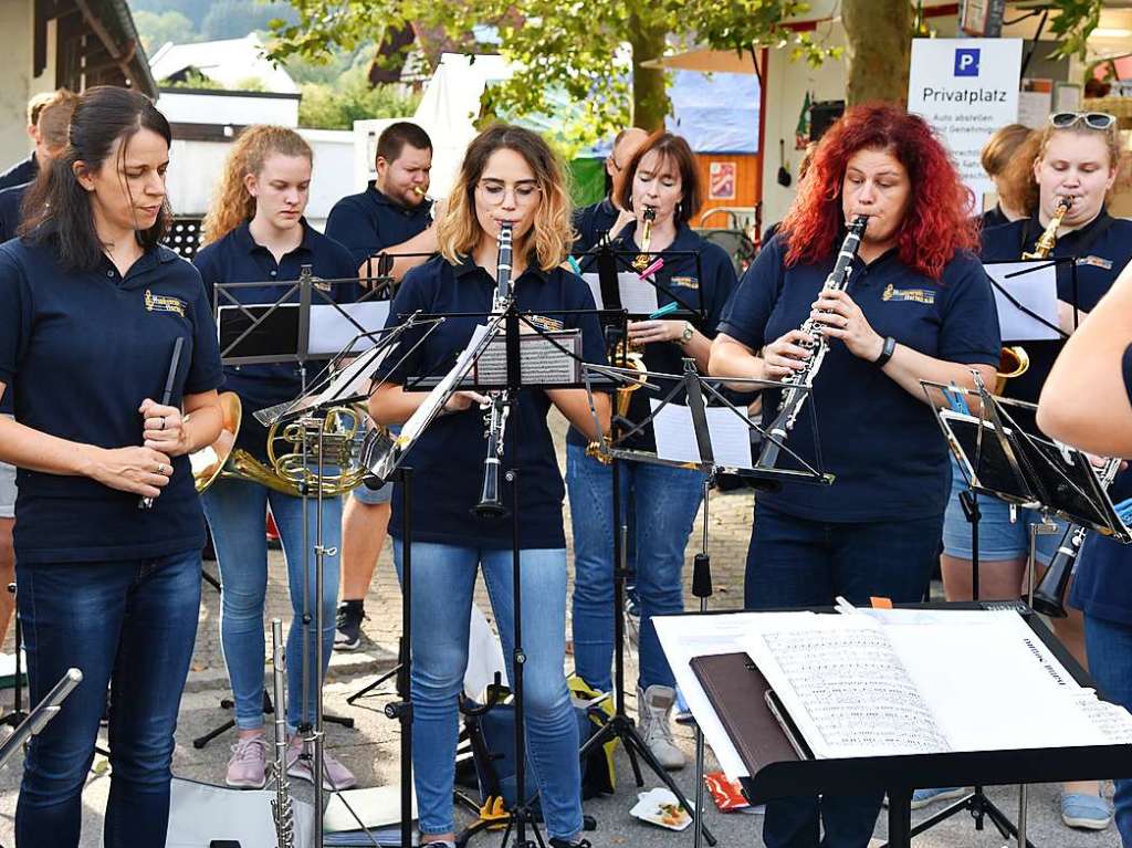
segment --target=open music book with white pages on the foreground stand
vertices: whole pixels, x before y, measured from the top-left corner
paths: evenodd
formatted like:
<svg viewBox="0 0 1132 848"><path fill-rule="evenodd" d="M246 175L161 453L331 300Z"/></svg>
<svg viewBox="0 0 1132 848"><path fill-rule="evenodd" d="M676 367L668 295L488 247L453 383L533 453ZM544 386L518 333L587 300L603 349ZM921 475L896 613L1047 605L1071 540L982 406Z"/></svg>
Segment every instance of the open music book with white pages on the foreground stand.
<svg viewBox="0 0 1132 848"><path fill-rule="evenodd" d="M740 641L816 759L1132 743L1010 611L753 617Z"/></svg>

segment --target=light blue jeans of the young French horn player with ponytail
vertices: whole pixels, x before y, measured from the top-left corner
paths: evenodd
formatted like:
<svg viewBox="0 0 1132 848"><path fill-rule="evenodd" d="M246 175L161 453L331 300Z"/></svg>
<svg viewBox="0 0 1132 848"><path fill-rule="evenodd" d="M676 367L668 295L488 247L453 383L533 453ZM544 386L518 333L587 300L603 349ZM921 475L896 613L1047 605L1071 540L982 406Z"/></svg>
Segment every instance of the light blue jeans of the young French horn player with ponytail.
<svg viewBox="0 0 1132 848"><path fill-rule="evenodd" d="M217 480L201 497L216 549L216 564L224 586L221 592L221 644L235 701L235 726L254 729L264 725L264 599L267 596L267 538L264 520L271 504L288 564L291 592L291 628L286 637L288 725L293 730L315 720L315 699L326 676L334 649L338 599L338 557L326 556L323 572L323 668L315 674L315 530L318 509L308 507L309 568L302 549L302 498L272 491L243 480ZM323 547L342 546L342 500L323 502ZM303 626L303 598L309 599L310 624ZM307 661L303 662L303 643ZM308 668L303 699L303 667ZM278 705L276 704L276 708Z"/></svg>

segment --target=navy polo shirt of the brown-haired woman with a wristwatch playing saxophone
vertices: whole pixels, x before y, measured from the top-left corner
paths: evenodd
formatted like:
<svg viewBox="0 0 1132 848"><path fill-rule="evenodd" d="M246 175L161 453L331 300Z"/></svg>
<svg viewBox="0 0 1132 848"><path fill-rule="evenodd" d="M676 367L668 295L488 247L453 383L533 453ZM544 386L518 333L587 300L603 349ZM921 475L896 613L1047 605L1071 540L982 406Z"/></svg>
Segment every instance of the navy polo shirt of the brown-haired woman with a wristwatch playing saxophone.
<svg viewBox="0 0 1132 848"><path fill-rule="evenodd" d="M635 252L641 249L636 243L635 230L636 223L631 222L617 233L618 250ZM719 245L705 241L686 224L679 226L672 243L664 250L688 255L667 257L664 267L654 274L659 284L657 289L658 307L676 302L681 310L691 309L698 312L702 309L705 319L701 320L697 316L691 319L691 323L709 339L713 339L723 315L723 307L738 285L731 257ZM696 262L697 256L692 254L698 256L698 263ZM677 300L677 298L679 299ZM645 368L657 374L683 374L685 356L684 349L674 342L658 342L644 346ZM671 386L660 384L659 388L660 395L667 396ZM648 389L637 391L631 395L627 414L631 421L643 421L649 417L651 411L650 396L655 395ZM685 403L684 392L675 394L672 401ZM567 434L567 439L576 445L586 443L582 434L573 427ZM625 445L641 451L654 451L655 439L652 435L652 427L645 427L641 434L627 439Z"/></svg>

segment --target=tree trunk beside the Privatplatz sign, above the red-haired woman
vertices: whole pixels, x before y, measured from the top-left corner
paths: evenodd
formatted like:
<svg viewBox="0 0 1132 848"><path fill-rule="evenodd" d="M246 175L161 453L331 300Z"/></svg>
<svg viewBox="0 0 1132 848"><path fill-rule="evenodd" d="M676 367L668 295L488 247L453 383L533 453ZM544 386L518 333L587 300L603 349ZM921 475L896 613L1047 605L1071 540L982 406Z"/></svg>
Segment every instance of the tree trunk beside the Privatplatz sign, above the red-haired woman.
<svg viewBox="0 0 1132 848"><path fill-rule="evenodd" d="M908 102L912 12L908 0L841 0L849 62L848 105Z"/></svg>

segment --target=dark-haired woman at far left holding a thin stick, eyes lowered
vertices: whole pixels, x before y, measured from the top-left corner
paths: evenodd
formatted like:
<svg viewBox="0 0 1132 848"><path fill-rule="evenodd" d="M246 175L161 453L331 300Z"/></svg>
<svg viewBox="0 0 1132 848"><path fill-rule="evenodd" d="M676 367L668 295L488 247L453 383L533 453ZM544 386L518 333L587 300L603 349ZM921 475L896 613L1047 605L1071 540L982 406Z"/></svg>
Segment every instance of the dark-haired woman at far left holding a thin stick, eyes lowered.
<svg viewBox="0 0 1132 848"><path fill-rule="evenodd" d="M188 454L220 434L223 380L200 275L161 246L170 144L145 95L88 88L28 190L20 238L0 246L0 394L15 395L0 460L19 469L31 703L83 673L28 745L16 807L28 848L79 845L108 685L103 843L165 846L205 540Z"/></svg>

